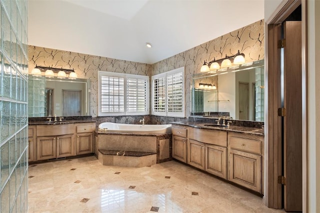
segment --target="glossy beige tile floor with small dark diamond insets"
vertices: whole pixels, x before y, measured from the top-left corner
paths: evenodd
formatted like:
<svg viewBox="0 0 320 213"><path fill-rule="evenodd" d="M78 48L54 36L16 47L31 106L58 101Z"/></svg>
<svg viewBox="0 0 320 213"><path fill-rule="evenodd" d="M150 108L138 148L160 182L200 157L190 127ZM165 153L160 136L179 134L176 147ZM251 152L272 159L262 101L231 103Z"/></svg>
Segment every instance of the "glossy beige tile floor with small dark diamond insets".
<svg viewBox="0 0 320 213"><path fill-rule="evenodd" d="M283 212L176 161L125 168L90 156L30 165L28 177L28 213Z"/></svg>

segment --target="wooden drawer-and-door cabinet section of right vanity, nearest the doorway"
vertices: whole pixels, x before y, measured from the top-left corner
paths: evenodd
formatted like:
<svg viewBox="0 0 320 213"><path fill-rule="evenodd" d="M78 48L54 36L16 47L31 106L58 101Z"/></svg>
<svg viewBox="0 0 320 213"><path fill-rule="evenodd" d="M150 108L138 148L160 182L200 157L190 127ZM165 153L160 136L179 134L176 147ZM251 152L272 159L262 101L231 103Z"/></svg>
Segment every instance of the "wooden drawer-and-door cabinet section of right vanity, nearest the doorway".
<svg viewBox="0 0 320 213"><path fill-rule="evenodd" d="M262 192L263 137L228 133L228 180Z"/></svg>

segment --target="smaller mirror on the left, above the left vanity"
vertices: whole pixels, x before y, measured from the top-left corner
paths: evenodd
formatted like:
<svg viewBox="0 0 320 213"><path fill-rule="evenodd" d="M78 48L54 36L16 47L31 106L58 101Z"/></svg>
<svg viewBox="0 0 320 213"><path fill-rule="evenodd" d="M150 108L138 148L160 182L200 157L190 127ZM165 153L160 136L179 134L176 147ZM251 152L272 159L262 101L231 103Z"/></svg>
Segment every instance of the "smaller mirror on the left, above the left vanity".
<svg viewBox="0 0 320 213"><path fill-rule="evenodd" d="M29 75L28 117L88 115L88 88L88 79Z"/></svg>

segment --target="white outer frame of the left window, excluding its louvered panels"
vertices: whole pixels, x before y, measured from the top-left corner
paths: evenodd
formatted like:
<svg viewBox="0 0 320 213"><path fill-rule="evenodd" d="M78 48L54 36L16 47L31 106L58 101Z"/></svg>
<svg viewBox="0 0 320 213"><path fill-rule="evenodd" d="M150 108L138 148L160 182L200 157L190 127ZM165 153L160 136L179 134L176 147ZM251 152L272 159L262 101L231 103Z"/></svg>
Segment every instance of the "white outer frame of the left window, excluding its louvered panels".
<svg viewBox="0 0 320 213"><path fill-rule="evenodd" d="M101 109L101 77L118 77L123 78L123 112L102 112ZM127 109L127 79L139 79L145 80L145 111L128 111ZM135 75L135 74L126 74L126 73L117 73L117 72L108 72L108 71L98 71L98 115L97 116L120 116L120 115L148 115L149 114L149 76L146 75Z"/></svg>

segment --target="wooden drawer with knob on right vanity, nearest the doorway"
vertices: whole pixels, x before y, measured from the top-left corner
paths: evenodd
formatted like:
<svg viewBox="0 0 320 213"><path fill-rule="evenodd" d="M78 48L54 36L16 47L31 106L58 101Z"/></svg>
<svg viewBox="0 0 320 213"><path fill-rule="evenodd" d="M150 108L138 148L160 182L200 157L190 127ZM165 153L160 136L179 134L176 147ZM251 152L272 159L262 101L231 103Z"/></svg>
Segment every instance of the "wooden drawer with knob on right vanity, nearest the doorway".
<svg viewBox="0 0 320 213"><path fill-rule="evenodd" d="M262 139L245 136L242 134L229 134L228 143L230 149L262 154Z"/></svg>

